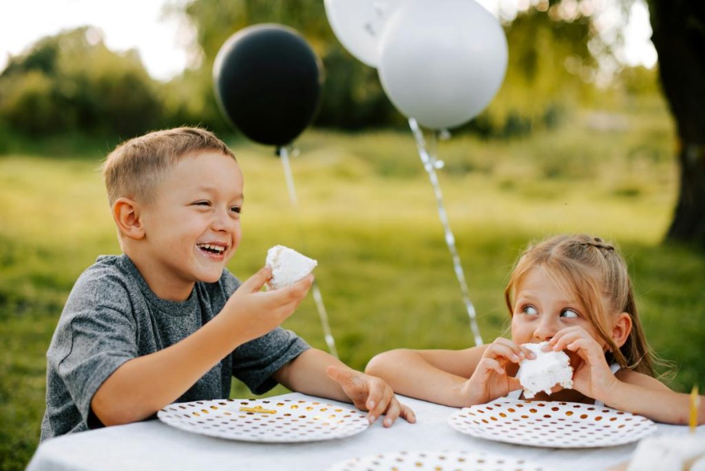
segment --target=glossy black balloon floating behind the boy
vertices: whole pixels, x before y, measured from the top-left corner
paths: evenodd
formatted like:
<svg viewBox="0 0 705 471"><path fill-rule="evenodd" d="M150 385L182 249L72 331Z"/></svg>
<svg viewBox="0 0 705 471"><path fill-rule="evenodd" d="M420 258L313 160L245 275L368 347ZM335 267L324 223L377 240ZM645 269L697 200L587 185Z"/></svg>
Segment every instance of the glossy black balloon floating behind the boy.
<svg viewBox="0 0 705 471"><path fill-rule="evenodd" d="M290 27L245 27L216 56L216 98L223 114L251 140L288 145L318 111L321 69L309 44Z"/></svg>

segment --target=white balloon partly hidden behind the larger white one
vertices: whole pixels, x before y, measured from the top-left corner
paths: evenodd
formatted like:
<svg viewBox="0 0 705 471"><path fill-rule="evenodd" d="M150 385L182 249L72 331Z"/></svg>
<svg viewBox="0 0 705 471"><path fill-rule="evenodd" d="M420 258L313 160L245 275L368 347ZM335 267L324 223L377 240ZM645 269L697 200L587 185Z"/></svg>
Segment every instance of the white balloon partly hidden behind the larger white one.
<svg viewBox="0 0 705 471"><path fill-rule="evenodd" d="M325 0L326 16L343 47L358 60L376 67L379 39L387 20L405 1Z"/></svg>

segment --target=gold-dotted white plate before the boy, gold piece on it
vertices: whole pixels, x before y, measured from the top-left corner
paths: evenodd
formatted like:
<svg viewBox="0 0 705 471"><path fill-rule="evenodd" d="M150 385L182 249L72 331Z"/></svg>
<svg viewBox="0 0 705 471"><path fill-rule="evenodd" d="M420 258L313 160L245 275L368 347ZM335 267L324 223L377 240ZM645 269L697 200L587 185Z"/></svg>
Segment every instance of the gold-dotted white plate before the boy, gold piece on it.
<svg viewBox="0 0 705 471"><path fill-rule="evenodd" d="M291 443L341 439L369 427L352 405L307 400L221 399L167 405L161 422L221 439Z"/></svg>

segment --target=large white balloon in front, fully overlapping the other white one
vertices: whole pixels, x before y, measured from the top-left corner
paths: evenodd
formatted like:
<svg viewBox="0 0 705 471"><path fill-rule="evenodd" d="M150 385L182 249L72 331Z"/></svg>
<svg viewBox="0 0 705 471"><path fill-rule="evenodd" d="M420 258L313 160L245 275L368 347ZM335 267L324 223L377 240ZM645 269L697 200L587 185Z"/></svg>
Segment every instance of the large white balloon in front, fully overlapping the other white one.
<svg viewBox="0 0 705 471"><path fill-rule="evenodd" d="M381 39L379 78L402 114L453 128L491 102L507 56L502 26L474 0L407 0Z"/></svg>

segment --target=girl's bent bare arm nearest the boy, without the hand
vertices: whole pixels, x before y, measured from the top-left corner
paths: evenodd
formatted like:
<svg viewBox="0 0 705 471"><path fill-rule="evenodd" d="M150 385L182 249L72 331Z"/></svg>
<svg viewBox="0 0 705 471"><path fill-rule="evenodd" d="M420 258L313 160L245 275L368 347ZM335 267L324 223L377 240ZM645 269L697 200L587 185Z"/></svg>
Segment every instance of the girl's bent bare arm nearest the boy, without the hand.
<svg viewBox="0 0 705 471"><path fill-rule="evenodd" d="M364 371L405 396L463 407L467 405L463 386L485 349L486 345L465 350L390 350L373 357Z"/></svg>

